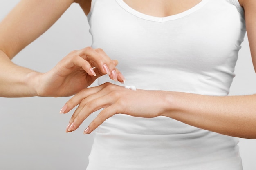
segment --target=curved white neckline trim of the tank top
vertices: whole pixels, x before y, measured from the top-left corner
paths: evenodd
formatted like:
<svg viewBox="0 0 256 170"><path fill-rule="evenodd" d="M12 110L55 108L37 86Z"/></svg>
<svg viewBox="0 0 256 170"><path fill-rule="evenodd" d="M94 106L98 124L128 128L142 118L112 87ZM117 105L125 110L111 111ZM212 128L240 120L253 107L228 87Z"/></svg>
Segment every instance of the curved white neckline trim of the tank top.
<svg viewBox="0 0 256 170"><path fill-rule="evenodd" d="M182 17L184 17L186 15L189 15L189 14L197 11L202 6L204 6L204 4L206 4L208 1L209 0L201 0L198 4L196 4L195 6L191 7L190 9L187 9L186 11L183 11L181 13L177 13L175 15L170 15L170 16L166 16L166 17L156 17L156 16L152 16L152 15L147 15L147 14L141 13L141 12L133 9L128 4L126 4L123 0L116 0L116 2L123 9L125 9L127 12L131 13L132 15L135 15L135 16L141 18L141 19L144 19L144 20L150 20L150 21L155 21L155 22L166 22L166 21L176 20L178 18L182 18Z"/></svg>

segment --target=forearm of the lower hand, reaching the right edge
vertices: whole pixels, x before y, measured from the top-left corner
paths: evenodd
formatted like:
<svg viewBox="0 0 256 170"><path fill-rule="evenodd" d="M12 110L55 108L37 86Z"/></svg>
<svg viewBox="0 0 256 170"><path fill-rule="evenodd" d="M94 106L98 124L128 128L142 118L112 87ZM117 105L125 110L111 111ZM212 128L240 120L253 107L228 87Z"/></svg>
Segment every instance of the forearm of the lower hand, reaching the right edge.
<svg viewBox="0 0 256 170"><path fill-rule="evenodd" d="M164 116L225 135L256 139L256 95L207 96L170 92Z"/></svg>

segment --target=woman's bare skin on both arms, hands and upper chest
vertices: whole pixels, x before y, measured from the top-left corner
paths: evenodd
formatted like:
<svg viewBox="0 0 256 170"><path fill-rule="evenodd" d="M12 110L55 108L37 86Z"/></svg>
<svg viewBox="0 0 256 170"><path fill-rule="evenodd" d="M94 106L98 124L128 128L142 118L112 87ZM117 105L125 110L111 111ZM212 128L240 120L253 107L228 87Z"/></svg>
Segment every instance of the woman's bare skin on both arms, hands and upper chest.
<svg viewBox="0 0 256 170"><path fill-rule="evenodd" d="M0 82L3 82L0 84L1 96L58 97L76 94L61 110L61 113L67 113L79 105L70 119L67 132L76 130L92 112L105 108L92 121L85 133L92 132L108 117L123 113L136 117L167 116L213 132L256 139L256 95L210 97L180 92L140 89L130 91L109 83L86 88L104 74L110 74L111 79L124 81L124 77L115 68L117 61L110 59L102 49L85 48L72 51L47 73L37 73L11 62L11 58L49 29L74 2L80 4L85 14L89 13L90 0L22 0L0 23ZM124 2L141 13L165 17L186 11L200 0L124 0ZM256 68L254 10L256 1L240 0L239 2L245 9L252 61ZM94 66L96 76L91 70ZM71 78L72 81L81 83L81 86L73 91L69 91L74 88L70 83ZM52 84L54 87L51 86ZM141 107L145 104L150 107Z"/></svg>

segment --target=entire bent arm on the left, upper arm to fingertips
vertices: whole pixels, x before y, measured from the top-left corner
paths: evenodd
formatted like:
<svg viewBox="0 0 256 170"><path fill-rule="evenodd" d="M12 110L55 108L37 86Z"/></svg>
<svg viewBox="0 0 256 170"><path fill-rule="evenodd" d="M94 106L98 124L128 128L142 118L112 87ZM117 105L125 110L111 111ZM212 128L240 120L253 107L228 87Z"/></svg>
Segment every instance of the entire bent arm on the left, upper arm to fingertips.
<svg viewBox="0 0 256 170"><path fill-rule="evenodd" d="M11 62L16 54L45 33L74 2L80 1L21 0L0 22L1 97L74 95L99 76L107 74L108 70L111 79L123 82L123 76L115 67L117 61L111 60L103 50L90 47L72 51L47 73L38 73Z"/></svg>

